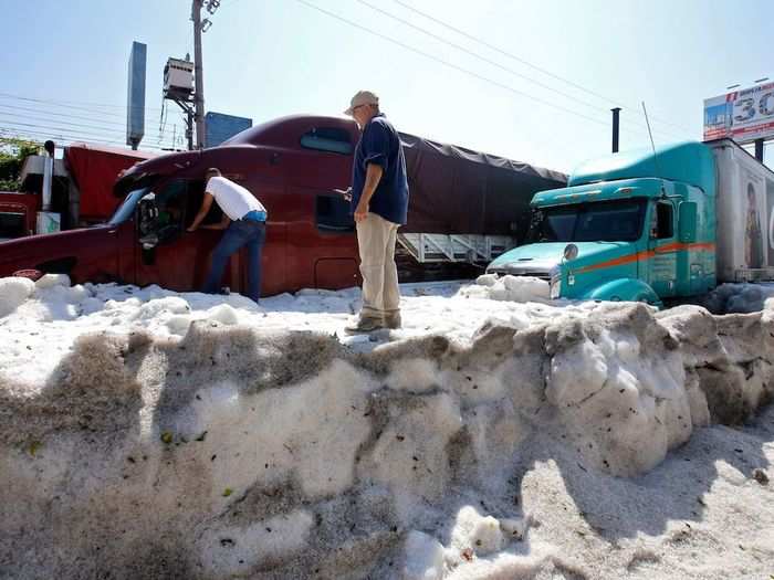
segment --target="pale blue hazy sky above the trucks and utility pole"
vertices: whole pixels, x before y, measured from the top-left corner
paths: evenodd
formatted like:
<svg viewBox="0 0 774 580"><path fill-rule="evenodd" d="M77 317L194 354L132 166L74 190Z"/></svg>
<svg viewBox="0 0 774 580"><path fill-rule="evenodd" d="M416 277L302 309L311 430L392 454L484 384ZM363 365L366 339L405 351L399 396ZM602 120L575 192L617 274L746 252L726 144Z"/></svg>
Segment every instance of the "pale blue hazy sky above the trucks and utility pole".
<svg viewBox="0 0 774 580"><path fill-rule="evenodd" d="M125 143L138 41L140 148L181 147L161 86L167 59L194 54L190 3L0 1L0 131ZM258 124L341 115L366 88L399 130L572 171L609 152L613 106L621 150L650 146L642 102L657 146L701 140L704 98L774 78L770 12L771 0L221 0L205 13L205 105Z"/></svg>

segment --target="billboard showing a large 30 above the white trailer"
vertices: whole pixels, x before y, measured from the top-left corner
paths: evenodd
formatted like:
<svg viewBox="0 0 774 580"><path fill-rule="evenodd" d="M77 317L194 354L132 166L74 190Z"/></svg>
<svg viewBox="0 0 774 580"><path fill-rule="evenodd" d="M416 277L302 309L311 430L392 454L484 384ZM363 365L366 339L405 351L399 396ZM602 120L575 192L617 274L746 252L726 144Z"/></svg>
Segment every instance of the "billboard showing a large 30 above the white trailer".
<svg viewBox="0 0 774 580"><path fill-rule="evenodd" d="M704 140L743 145L774 137L774 83L704 99Z"/></svg>

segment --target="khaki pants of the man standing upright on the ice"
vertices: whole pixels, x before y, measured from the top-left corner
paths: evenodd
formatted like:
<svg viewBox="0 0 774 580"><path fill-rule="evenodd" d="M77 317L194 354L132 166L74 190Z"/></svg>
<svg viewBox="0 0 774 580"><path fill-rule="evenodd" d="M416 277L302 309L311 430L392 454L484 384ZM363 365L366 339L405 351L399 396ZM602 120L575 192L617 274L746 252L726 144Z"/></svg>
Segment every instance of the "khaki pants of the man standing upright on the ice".
<svg viewBox="0 0 774 580"><path fill-rule="evenodd" d="M365 220L357 222L363 275L362 319L381 319L400 312L398 267L395 265L395 243L399 226L376 213L368 213Z"/></svg>

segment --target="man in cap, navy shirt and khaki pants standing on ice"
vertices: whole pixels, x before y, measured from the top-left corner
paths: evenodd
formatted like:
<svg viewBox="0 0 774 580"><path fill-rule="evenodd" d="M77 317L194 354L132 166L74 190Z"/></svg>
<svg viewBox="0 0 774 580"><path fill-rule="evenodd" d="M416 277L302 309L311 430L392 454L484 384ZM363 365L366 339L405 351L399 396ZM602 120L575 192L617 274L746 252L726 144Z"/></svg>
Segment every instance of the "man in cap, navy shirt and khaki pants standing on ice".
<svg viewBox="0 0 774 580"><path fill-rule="evenodd" d="M360 127L352 171L352 209L363 275L363 308L348 333L400 328L395 264L398 228L408 213L408 180L400 137L379 112L379 98L360 91L344 113Z"/></svg>

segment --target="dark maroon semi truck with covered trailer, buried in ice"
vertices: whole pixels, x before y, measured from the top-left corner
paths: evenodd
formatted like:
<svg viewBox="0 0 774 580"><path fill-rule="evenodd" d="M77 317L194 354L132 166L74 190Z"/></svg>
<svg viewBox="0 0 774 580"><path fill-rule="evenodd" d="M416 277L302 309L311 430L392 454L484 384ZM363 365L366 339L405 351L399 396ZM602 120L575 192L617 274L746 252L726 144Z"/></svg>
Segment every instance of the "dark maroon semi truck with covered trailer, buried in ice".
<svg viewBox="0 0 774 580"><path fill-rule="evenodd" d="M349 184L358 138L348 119L291 116L211 149L139 162L115 183L123 203L107 222L0 242L0 276L33 270L66 273L75 282L198 288L221 232L185 230L201 202L206 169L217 167L269 212L264 295L353 286L358 283L354 223L349 204L334 190ZM566 183L556 171L411 135L401 139L410 188L401 246L416 266L404 274L421 275L443 263L485 264L523 239L532 196ZM218 220L213 207L205 223ZM244 253L232 256L224 276L234 291L247 283L244 260Z"/></svg>

